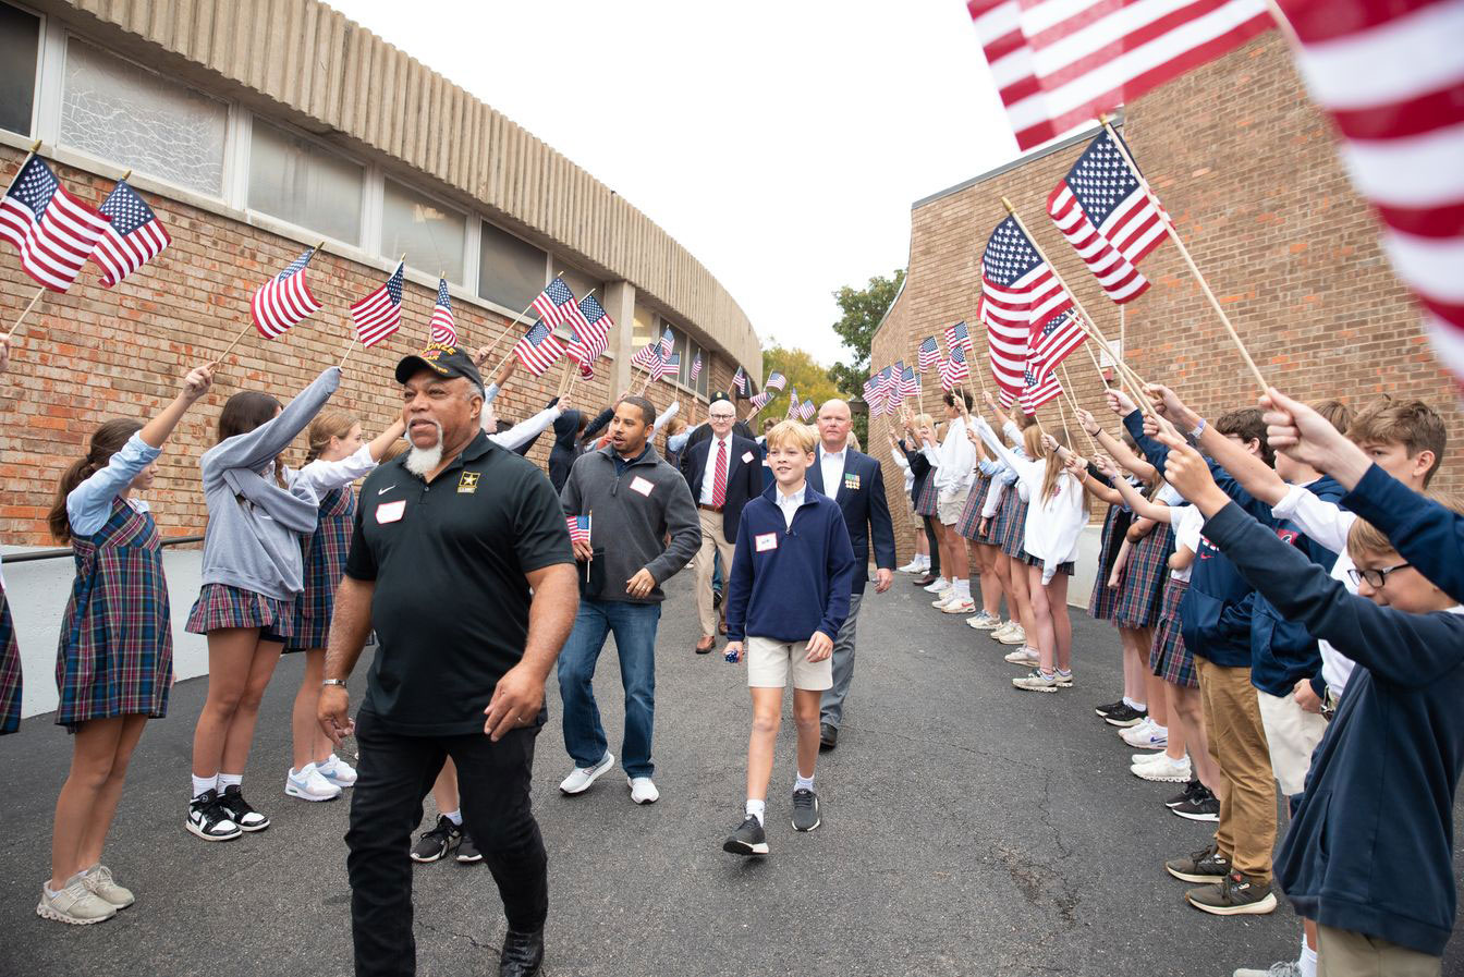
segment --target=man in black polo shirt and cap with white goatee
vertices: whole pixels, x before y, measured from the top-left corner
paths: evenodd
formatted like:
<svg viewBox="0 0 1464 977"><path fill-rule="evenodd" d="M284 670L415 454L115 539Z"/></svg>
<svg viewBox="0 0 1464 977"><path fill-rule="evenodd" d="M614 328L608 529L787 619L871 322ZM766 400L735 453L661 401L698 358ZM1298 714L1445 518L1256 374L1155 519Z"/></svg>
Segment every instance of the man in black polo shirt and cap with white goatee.
<svg viewBox="0 0 1464 977"><path fill-rule="evenodd" d="M569 533L543 473L479 429L483 381L461 350L429 346L397 381L411 450L362 486L318 706L338 743L351 729L346 678L375 627L346 833L356 973L416 970L406 855L451 756L508 917L499 974L529 977L548 914L529 784L545 680L578 602Z"/></svg>

